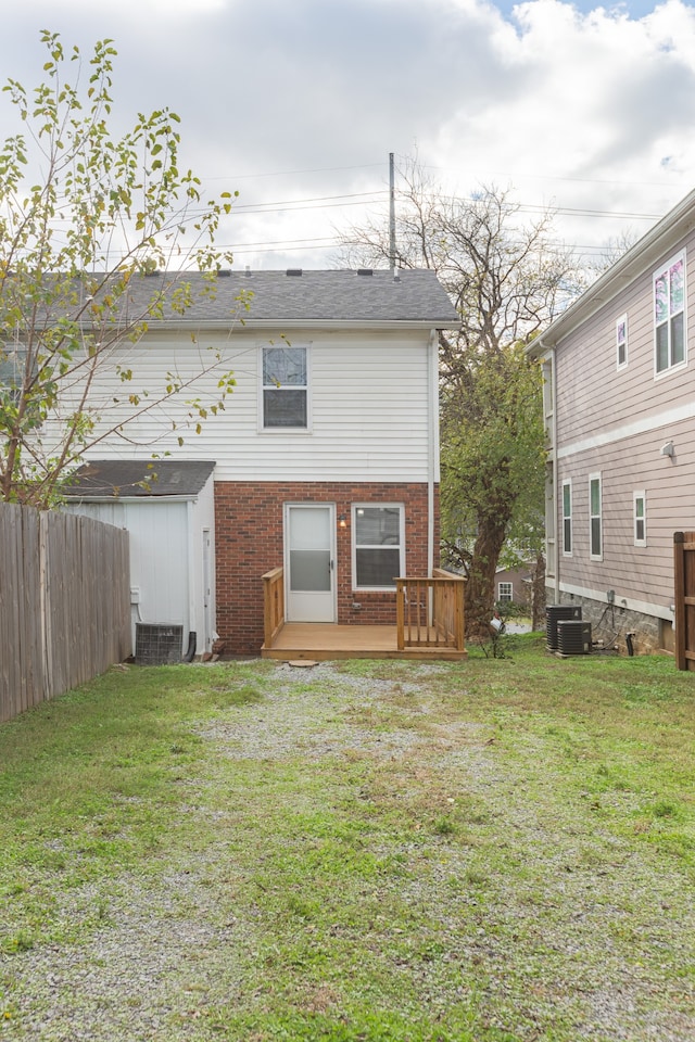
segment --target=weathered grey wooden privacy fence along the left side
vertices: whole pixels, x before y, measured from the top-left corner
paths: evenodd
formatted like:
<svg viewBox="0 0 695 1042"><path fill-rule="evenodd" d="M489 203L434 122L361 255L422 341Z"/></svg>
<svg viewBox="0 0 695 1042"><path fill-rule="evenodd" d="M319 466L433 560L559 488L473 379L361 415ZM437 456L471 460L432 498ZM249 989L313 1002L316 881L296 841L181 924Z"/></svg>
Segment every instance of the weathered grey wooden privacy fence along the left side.
<svg viewBox="0 0 695 1042"><path fill-rule="evenodd" d="M130 655L128 533L0 504L0 721Z"/></svg>

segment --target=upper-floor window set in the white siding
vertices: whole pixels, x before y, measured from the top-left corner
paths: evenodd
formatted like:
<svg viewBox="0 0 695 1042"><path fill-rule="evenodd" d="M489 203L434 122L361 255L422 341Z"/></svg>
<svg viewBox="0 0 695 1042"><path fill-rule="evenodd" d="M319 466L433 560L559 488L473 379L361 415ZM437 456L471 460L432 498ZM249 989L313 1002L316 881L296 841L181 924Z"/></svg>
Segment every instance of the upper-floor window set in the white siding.
<svg viewBox="0 0 695 1042"><path fill-rule="evenodd" d="M308 348L263 347L264 430L308 428Z"/></svg>

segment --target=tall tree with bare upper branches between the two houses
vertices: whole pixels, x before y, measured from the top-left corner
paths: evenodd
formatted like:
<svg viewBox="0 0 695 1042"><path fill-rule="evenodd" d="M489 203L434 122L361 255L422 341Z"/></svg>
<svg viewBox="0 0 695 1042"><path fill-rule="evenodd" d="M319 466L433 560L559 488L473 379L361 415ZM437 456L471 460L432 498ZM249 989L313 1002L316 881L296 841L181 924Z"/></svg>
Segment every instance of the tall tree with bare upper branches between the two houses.
<svg viewBox="0 0 695 1042"><path fill-rule="evenodd" d="M397 265L433 268L462 319L440 339L442 534L445 559L468 577L475 632L491 617L505 539L542 541L542 385L525 348L574 295L576 266L553 242L552 215L523 223L510 190L447 196L416 163L401 181ZM383 265L388 228L354 228L344 250L350 260Z"/></svg>

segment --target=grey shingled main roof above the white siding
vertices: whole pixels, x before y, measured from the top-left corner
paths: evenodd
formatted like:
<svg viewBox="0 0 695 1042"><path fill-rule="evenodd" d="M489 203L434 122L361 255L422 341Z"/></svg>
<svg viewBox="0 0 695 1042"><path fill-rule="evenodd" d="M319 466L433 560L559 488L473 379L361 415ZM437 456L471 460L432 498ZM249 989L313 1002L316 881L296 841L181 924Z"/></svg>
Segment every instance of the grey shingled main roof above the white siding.
<svg viewBox="0 0 695 1042"><path fill-rule="evenodd" d="M127 308L141 314L159 293L190 283L191 303L178 316L166 303L151 325L248 326L407 325L453 329L460 317L435 274L429 269L336 269L219 271L213 292L200 272L163 271L132 278ZM240 303L245 295L249 307Z"/></svg>

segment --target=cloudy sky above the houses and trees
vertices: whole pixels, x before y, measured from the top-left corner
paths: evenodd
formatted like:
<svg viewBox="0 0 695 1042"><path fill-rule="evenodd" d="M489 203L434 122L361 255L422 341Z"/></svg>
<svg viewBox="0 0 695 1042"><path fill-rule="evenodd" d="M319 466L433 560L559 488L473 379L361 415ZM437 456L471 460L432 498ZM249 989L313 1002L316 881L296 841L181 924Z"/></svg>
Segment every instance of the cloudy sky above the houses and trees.
<svg viewBox="0 0 695 1042"><path fill-rule="evenodd" d="M389 153L447 194L509 189L586 262L695 187L695 5L627 0L2 0L0 81L45 78L46 28L114 40L114 125L168 106L219 244L252 268L340 263L388 218ZM0 96L0 138L18 126ZM396 190L399 180L396 177Z"/></svg>

